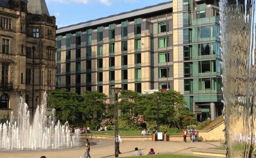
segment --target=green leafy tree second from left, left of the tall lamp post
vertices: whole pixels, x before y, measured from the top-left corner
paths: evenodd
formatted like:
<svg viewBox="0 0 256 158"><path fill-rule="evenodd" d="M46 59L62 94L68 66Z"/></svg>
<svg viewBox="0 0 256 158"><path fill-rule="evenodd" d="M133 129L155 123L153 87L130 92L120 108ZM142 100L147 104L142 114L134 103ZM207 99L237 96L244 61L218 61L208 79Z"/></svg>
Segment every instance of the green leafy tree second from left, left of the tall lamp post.
<svg viewBox="0 0 256 158"><path fill-rule="evenodd" d="M98 91L84 91L83 103L79 107L79 111L86 117L93 118L94 113L103 113L105 110L105 101L107 96Z"/></svg>

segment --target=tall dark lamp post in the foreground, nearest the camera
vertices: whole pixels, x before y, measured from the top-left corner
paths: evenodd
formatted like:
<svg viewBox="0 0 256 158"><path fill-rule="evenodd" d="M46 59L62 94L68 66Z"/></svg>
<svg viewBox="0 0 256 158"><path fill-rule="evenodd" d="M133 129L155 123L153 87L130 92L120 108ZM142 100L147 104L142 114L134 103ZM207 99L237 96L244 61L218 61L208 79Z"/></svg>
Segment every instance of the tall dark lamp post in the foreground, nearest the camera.
<svg viewBox="0 0 256 158"><path fill-rule="evenodd" d="M110 88L111 91L115 94L115 157L118 157L118 93L121 91L121 88Z"/></svg>

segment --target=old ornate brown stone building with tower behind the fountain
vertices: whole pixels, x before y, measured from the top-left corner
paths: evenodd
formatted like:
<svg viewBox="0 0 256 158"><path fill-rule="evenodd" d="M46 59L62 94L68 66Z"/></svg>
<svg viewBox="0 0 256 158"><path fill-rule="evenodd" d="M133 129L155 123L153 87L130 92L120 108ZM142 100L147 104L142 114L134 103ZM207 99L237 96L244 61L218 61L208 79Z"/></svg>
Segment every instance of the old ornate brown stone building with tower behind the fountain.
<svg viewBox="0 0 256 158"><path fill-rule="evenodd" d="M56 20L44 0L1 0L0 19L0 120L17 119L20 96L35 111L55 88Z"/></svg>

